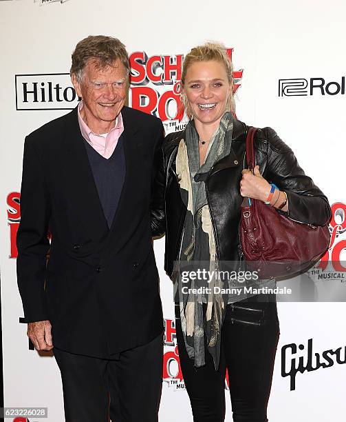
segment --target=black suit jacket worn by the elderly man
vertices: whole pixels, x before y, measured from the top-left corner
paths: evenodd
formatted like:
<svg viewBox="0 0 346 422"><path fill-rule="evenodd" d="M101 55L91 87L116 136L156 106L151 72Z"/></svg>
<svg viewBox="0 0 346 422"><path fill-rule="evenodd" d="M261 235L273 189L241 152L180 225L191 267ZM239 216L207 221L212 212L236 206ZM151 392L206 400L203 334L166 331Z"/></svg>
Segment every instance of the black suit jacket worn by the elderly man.
<svg viewBox="0 0 346 422"><path fill-rule="evenodd" d="M150 220L162 123L127 107L122 119L126 175L110 229L76 109L24 146L17 276L25 320L49 319L54 346L89 356L134 348L163 330Z"/></svg>

